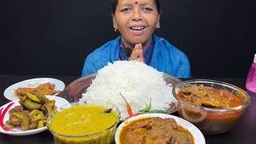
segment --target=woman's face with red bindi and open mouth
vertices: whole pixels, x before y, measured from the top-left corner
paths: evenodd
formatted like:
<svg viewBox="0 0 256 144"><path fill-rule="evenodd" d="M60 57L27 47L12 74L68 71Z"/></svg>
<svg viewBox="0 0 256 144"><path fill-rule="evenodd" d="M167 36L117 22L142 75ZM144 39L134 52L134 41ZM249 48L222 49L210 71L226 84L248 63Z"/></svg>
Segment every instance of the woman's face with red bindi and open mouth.
<svg viewBox="0 0 256 144"><path fill-rule="evenodd" d="M146 44L159 26L157 6L154 0L118 0L113 23L122 34L124 44Z"/></svg>

